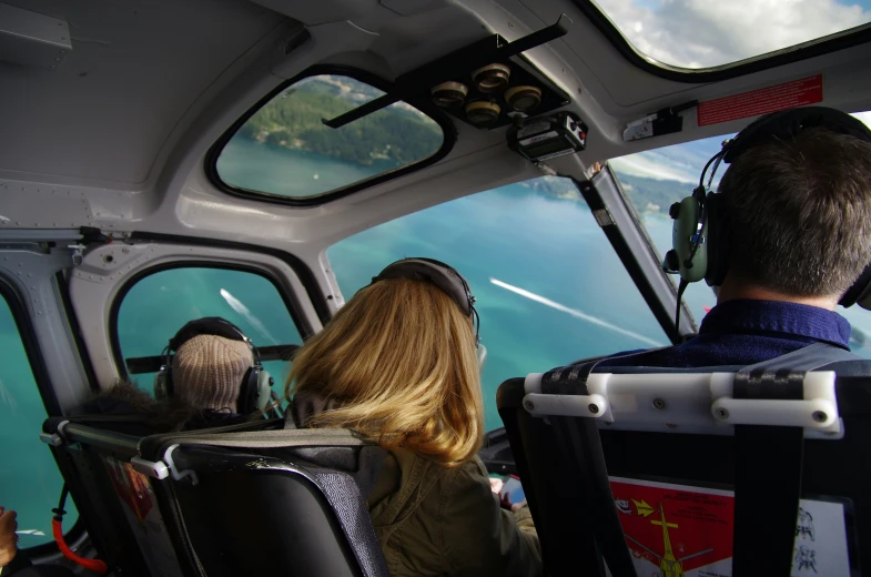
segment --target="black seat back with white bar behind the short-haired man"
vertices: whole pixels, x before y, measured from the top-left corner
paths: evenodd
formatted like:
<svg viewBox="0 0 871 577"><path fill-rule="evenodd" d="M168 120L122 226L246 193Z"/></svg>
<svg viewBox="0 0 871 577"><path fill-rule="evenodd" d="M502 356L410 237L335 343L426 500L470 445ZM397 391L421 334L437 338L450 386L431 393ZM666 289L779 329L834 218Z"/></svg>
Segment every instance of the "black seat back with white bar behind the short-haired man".
<svg viewBox="0 0 871 577"><path fill-rule="evenodd" d="M739 398L739 367L560 386L571 368L497 394L549 575L605 575L605 559L616 576L871 567L869 363L803 374L786 399Z"/></svg>

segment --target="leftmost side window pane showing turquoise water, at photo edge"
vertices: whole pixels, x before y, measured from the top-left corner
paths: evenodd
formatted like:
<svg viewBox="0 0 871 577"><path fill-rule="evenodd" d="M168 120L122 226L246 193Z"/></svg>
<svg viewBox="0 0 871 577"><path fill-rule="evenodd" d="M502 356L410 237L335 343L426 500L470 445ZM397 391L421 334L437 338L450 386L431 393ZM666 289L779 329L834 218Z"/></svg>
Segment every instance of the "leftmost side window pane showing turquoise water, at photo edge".
<svg viewBox="0 0 871 577"><path fill-rule="evenodd" d="M0 298L0 505L18 513L19 547L26 549L52 540L51 509L58 506L63 478L39 441L45 407L4 298ZM68 499L64 527L72 527L78 517Z"/></svg>

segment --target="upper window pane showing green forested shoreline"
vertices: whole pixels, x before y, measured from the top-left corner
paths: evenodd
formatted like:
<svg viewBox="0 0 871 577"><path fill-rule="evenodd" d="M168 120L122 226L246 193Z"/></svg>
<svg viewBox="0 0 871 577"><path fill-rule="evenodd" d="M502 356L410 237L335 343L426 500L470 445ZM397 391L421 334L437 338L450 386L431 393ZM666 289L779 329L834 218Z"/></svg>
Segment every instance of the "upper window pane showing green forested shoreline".
<svg viewBox="0 0 871 577"><path fill-rule="evenodd" d="M442 126L406 102L338 129L323 123L383 95L337 74L288 85L226 141L219 180L261 196L315 199L433 159L445 144Z"/></svg>

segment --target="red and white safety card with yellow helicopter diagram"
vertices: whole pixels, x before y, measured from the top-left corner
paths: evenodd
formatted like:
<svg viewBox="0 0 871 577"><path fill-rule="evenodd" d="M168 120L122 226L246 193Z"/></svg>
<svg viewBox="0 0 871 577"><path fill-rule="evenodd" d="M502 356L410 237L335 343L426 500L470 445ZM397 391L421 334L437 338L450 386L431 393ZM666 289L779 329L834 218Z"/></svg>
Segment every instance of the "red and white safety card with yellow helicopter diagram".
<svg viewBox="0 0 871 577"><path fill-rule="evenodd" d="M731 577L735 493L611 477L624 535L644 577ZM801 499L792 576L850 577L841 503Z"/></svg>

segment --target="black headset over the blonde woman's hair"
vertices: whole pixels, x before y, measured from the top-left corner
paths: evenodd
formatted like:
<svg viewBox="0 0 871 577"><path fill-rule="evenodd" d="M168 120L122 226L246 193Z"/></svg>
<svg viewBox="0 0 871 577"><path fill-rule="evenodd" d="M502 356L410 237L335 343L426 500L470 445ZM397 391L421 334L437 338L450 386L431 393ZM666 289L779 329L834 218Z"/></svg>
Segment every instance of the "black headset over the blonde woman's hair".
<svg viewBox="0 0 871 577"><path fill-rule="evenodd" d="M475 297L456 269L435 259L403 259L388 264L377 276L373 276L371 284L385 279L411 279L436 285L457 304L463 314L472 317L475 325L475 347L484 348L480 346L480 316L475 310ZM480 353L478 361L483 364Z"/></svg>

